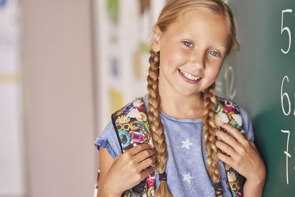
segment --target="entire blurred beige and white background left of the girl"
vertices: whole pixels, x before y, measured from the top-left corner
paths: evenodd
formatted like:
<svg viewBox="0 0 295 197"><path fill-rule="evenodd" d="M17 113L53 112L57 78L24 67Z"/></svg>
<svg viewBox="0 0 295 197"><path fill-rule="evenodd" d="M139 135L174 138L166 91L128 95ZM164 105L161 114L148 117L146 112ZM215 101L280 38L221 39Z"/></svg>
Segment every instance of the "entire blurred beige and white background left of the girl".
<svg viewBox="0 0 295 197"><path fill-rule="evenodd" d="M144 96L167 0L0 0L0 197L91 197L95 138Z"/></svg>

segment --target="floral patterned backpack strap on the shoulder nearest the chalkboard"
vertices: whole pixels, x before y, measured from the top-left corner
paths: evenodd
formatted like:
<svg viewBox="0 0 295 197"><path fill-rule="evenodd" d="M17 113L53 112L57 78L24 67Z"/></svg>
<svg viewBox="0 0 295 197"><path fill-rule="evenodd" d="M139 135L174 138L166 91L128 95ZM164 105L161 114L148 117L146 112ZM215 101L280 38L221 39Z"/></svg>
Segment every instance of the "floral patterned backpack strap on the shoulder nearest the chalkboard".
<svg viewBox="0 0 295 197"><path fill-rule="evenodd" d="M231 126L235 127L240 133L245 136L245 131L243 127L242 116L240 114L240 110L238 106L227 99L222 99L220 97L216 97L216 109L214 115L214 121L217 125L217 129L224 131L231 135L228 131L225 131L220 127L221 123L228 123ZM220 138L218 138L221 140ZM223 141L223 140L221 140ZM223 154L229 156L224 151L220 150ZM225 172L228 178L229 187L232 191L233 197L242 197L243 196L243 185L246 181L245 177L240 175L232 166L228 164L224 164Z"/></svg>

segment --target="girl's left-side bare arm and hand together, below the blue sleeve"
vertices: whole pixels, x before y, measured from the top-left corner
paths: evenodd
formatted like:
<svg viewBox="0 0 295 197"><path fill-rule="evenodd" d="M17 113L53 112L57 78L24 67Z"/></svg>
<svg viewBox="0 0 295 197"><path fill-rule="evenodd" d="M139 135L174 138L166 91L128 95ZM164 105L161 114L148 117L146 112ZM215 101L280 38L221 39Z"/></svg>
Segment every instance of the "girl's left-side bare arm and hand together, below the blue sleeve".
<svg viewBox="0 0 295 197"><path fill-rule="evenodd" d="M149 144L137 145L114 160L107 149L100 147L97 197L120 197L151 174L154 168L149 166L155 162L151 148Z"/></svg>

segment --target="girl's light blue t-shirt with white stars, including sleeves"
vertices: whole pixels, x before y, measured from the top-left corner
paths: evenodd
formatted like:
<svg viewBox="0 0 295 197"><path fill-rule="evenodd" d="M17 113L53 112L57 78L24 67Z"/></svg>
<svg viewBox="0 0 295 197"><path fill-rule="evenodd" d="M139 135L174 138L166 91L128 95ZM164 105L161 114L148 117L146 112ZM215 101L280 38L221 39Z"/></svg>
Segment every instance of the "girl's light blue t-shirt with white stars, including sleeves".
<svg viewBox="0 0 295 197"><path fill-rule="evenodd" d="M144 97L148 110L148 95ZM248 114L241 108L243 126L246 137L254 141L254 133ZM207 173L207 151L205 148L203 120L177 119L161 112L164 125L168 160L166 167L167 185L173 197L214 197L214 182ZM115 159L120 153L118 138L110 122L94 145L107 148ZM220 181L223 187L223 197L232 197L227 184L224 164L219 161ZM159 185L156 179L156 188Z"/></svg>

